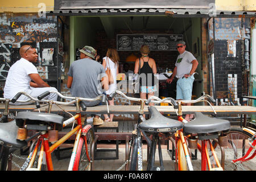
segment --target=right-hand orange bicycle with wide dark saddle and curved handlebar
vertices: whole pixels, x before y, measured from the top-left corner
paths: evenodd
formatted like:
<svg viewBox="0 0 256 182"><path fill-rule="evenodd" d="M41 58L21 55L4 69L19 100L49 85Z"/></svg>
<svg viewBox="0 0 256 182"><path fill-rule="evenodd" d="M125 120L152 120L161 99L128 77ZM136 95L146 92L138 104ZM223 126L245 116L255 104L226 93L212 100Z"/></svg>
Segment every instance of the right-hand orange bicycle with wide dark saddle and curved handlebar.
<svg viewBox="0 0 256 182"><path fill-rule="evenodd" d="M196 103L201 101L206 101L205 98L208 98L211 102L214 102L213 98L204 95L196 100L176 100L178 107L178 114L177 119L181 122L183 122L183 133L179 133L175 135L175 141L174 139L170 138L172 140L172 143L175 143L175 167L177 168L177 159L179 159L179 170L187 170L187 164L186 160L184 159L186 154L183 153L183 150L180 150L180 143L179 141L180 134L181 136L185 136L185 140L188 140L188 148L189 148L189 154L191 153L190 149L197 149L201 152L201 170L206 171L207 167L211 170L224 170L224 160L225 160L225 153L223 146L226 145L226 143L222 140L225 138L226 133L230 130L230 122L225 119L217 119L217 118L211 118L207 117L206 115L202 114L201 112L195 112L195 119L188 122L185 121L185 119L182 117L182 106L183 103ZM208 102L210 105L210 103ZM210 105L212 110L214 111L214 114L216 114L216 111L213 109L212 105ZM217 140L218 138L218 140ZM213 140L213 142L210 142L210 139ZM197 142L198 140L201 140L201 145ZM209 152L207 143L209 143ZM221 163L219 162L216 154L216 147L217 145L221 146ZM178 152L178 156L177 156ZM209 155L210 154L210 155ZM214 165L216 164L217 167Z"/></svg>

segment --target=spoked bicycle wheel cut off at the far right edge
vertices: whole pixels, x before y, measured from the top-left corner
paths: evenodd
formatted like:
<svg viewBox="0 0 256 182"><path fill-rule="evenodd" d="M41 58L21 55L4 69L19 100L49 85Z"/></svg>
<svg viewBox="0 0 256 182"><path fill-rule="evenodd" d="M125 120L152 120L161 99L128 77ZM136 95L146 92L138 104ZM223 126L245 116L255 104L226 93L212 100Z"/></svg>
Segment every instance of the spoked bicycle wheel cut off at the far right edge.
<svg viewBox="0 0 256 182"><path fill-rule="evenodd" d="M250 148L249 139L255 132L240 127L232 127L228 133L228 146L225 147L225 169L234 171L252 171L256 170L256 159L247 160L246 162L233 163L232 160L240 159ZM255 137L253 138L255 139ZM249 156L252 152L249 154ZM247 157L249 157L247 156Z"/></svg>

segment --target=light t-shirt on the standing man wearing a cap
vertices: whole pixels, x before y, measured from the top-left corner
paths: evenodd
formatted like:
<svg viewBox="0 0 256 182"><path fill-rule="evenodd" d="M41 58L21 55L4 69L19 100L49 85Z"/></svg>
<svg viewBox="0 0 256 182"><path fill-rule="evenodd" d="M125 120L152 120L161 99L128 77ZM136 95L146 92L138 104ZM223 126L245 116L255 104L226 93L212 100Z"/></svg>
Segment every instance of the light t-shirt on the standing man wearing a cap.
<svg viewBox="0 0 256 182"><path fill-rule="evenodd" d="M196 60L195 56L191 52L184 51L181 55L177 56L175 66L177 67L177 78L182 78L185 74L188 74L192 69L192 61Z"/></svg>

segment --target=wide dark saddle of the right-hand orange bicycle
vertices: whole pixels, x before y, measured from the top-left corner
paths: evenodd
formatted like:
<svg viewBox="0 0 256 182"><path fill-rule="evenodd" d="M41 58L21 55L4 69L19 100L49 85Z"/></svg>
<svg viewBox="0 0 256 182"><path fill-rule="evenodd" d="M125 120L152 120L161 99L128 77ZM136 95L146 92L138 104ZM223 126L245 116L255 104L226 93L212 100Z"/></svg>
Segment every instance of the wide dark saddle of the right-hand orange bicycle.
<svg viewBox="0 0 256 182"><path fill-rule="evenodd" d="M185 123L184 133L214 133L230 129L230 122L225 119L210 118L201 112L195 112L195 119Z"/></svg>

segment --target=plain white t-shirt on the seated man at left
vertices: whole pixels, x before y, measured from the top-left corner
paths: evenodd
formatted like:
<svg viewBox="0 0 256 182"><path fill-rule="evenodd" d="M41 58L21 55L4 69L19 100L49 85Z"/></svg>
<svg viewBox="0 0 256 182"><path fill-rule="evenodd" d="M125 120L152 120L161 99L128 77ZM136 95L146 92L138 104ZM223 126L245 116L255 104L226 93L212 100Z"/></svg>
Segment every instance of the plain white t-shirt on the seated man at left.
<svg viewBox="0 0 256 182"><path fill-rule="evenodd" d="M30 87L30 74L37 73L36 67L30 61L22 58L14 63L9 69L5 88L3 89L5 98L13 98L16 93L23 92Z"/></svg>

